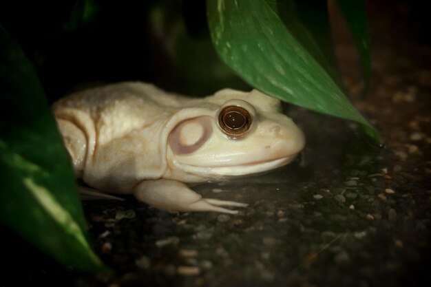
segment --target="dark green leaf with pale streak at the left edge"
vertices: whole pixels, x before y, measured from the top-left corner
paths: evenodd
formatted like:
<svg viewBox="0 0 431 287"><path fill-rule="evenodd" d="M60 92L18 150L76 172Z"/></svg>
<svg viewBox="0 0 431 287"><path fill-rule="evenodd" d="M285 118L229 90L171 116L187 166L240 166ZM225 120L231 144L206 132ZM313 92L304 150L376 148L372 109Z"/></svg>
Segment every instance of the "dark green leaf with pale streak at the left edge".
<svg viewBox="0 0 431 287"><path fill-rule="evenodd" d="M81 202L41 83L0 25L0 220L78 270L106 270L87 241Z"/></svg>

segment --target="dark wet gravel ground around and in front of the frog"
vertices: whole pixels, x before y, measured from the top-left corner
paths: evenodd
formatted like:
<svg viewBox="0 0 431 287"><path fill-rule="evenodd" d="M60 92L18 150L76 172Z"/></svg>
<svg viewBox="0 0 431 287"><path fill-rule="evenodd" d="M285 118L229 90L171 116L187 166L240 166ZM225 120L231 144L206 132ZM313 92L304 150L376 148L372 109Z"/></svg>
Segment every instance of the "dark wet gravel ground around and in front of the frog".
<svg viewBox="0 0 431 287"><path fill-rule="evenodd" d="M62 286L78 287L429 286L431 49L408 34L414 23L379 19L384 7L374 8L372 89L354 101L385 147L366 142L355 124L288 107L308 139L295 162L196 187L207 198L249 203L238 215L171 214L133 198L85 202L96 253L115 272L77 274L41 259L21 279L58 284L61 276ZM338 52L358 94L354 51L341 43ZM26 252L36 253L24 249L21 259Z"/></svg>

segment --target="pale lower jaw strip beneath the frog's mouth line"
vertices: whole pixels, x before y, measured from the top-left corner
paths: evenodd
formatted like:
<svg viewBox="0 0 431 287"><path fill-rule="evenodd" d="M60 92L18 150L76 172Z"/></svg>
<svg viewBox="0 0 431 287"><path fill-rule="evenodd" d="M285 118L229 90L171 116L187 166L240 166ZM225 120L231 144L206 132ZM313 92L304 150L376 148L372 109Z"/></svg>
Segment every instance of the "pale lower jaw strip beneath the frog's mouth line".
<svg viewBox="0 0 431 287"><path fill-rule="evenodd" d="M183 165L185 171L194 173L200 176L211 177L229 177L229 176L245 176L254 173L262 173L277 167L282 167L295 158L296 155L286 156L284 158L277 158L275 160L250 162L246 164L223 166L223 167L197 167L193 165Z"/></svg>

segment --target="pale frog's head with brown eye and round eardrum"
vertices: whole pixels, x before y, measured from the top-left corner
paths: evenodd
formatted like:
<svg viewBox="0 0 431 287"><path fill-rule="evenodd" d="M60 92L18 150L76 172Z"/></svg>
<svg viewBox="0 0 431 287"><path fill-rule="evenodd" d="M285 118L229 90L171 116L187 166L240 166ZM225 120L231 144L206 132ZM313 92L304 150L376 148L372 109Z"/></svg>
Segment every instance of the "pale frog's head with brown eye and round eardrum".
<svg viewBox="0 0 431 287"><path fill-rule="evenodd" d="M257 90L223 89L199 103L169 121L168 160L176 169L207 178L259 173L288 164L304 147L280 100Z"/></svg>

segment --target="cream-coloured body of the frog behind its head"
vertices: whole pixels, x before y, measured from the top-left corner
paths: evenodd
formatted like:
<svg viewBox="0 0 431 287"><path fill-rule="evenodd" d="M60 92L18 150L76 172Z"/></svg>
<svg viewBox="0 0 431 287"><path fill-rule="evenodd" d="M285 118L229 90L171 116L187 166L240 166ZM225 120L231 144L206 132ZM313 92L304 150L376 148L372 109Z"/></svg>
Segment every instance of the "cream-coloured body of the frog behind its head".
<svg viewBox="0 0 431 287"><path fill-rule="evenodd" d="M182 100L154 85L118 83L66 96L54 103L53 110L76 174L93 187L118 192L139 180L160 178L165 171L160 136ZM74 135L67 142L71 130ZM79 165L74 156L84 141Z"/></svg>

